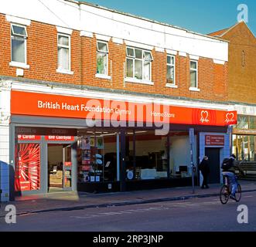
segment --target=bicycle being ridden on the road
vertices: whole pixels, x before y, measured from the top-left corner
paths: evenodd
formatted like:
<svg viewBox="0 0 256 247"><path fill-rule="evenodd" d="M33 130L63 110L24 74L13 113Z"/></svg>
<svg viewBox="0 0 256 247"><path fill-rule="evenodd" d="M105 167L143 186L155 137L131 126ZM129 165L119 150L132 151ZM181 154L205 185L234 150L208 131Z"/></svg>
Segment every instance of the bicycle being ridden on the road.
<svg viewBox="0 0 256 247"><path fill-rule="evenodd" d="M237 176L235 177L236 181L237 181ZM220 202L222 204L227 204L227 201L230 198L231 195L231 184L229 181L229 178L227 177L227 175L224 175L224 179L225 179L225 184L222 186L222 188L220 189ZM242 196L242 189L241 189L241 185L239 183L237 183L237 191L235 193L235 201L240 201L241 200L241 196Z"/></svg>

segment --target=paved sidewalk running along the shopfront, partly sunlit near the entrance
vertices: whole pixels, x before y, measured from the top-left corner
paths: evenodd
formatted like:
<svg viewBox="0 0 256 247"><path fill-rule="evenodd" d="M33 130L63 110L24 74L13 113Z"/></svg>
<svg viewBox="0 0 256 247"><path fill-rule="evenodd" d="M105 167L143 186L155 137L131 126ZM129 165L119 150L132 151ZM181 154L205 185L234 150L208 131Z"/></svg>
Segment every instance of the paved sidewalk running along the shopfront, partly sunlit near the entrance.
<svg viewBox="0 0 256 247"><path fill-rule="evenodd" d="M255 181L240 181L242 192L256 191ZM121 205L139 205L159 201L179 201L189 198L217 197L220 184L210 184L210 188L195 187L162 188L146 191L126 191L106 194L84 192L53 192L47 195L30 195L16 198L15 201L1 202L0 218L5 217L6 205L15 205L16 215L26 215L47 211L72 211L84 208L104 208ZM243 197L243 195L242 195Z"/></svg>

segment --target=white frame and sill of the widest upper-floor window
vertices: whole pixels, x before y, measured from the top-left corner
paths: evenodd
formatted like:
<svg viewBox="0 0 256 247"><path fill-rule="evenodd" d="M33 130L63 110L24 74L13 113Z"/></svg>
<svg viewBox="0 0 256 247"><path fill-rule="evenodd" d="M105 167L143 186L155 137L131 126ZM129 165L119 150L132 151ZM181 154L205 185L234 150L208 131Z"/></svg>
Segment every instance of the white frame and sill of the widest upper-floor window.
<svg viewBox="0 0 256 247"><path fill-rule="evenodd" d="M128 56L128 49L132 49L133 50L133 56ZM135 49L138 49L140 51L142 51L142 59L138 59L135 56ZM145 52L148 52L151 56L152 59L145 59ZM133 77L128 77L127 76L127 59L132 59L133 60ZM142 79L137 79L135 78L135 60L138 61L142 61ZM145 84L150 84L152 85L152 61L153 61L153 56L152 56L152 52L149 50L145 50L145 49L140 49L137 47L131 47L131 46L127 46L126 47L126 59L125 59L125 63L126 63L126 69L125 69L125 80L128 82L132 82L132 83L144 83ZM145 80L144 79L144 63L145 62L150 62L149 63L149 80Z"/></svg>

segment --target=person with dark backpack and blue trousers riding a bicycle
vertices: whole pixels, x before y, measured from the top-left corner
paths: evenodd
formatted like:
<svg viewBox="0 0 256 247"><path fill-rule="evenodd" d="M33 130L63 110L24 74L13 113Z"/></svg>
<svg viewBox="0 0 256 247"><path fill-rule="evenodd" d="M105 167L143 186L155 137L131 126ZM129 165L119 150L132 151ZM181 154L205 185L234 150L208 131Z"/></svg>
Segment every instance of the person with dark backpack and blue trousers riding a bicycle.
<svg viewBox="0 0 256 247"><path fill-rule="evenodd" d="M236 156L234 154L232 154L229 159L230 167L227 170L223 169L222 174L224 176L227 176L227 178L229 179L230 184L232 186L230 198L235 200L235 194L237 191L237 178L235 175L235 170L237 168L243 175L244 171L241 169L241 167L239 167L239 163L236 161Z"/></svg>

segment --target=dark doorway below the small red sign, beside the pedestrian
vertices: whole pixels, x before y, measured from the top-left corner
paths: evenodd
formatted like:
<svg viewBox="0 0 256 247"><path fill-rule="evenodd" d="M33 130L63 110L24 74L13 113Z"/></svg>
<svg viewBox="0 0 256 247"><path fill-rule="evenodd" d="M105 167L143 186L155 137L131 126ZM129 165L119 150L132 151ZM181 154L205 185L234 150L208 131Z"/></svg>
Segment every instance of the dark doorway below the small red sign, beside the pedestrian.
<svg viewBox="0 0 256 247"><path fill-rule="evenodd" d="M206 148L205 155L209 157L209 184L220 183L220 148Z"/></svg>

